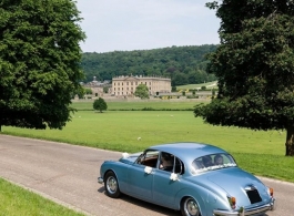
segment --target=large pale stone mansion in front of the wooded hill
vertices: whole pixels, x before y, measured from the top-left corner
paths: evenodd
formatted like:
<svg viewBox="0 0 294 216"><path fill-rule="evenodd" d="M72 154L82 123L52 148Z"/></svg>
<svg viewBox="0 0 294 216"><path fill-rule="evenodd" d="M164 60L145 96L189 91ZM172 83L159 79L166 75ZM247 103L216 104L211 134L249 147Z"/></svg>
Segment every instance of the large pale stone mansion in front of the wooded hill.
<svg viewBox="0 0 294 216"><path fill-rule="evenodd" d="M115 96L131 96L139 84L145 84L150 95L171 93L171 79L160 76L121 75L112 78L111 93Z"/></svg>

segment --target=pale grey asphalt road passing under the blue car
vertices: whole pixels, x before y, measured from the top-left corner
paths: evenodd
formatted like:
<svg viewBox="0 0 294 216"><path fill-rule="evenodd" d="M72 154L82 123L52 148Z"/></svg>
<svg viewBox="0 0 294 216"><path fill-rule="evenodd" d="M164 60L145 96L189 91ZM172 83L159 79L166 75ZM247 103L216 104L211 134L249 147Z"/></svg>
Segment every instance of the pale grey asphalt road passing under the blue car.
<svg viewBox="0 0 294 216"><path fill-rule="evenodd" d="M0 135L0 176L87 215L170 215L179 212L123 196L109 198L97 183L99 167L121 153ZM294 215L294 184L262 178L275 189L277 209L267 216Z"/></svg>

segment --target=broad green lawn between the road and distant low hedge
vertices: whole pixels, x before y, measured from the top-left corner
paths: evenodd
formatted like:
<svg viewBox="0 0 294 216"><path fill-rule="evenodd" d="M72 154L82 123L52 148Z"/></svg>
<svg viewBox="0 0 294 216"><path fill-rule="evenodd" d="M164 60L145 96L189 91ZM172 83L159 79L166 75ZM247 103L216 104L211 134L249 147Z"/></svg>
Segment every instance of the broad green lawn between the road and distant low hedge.
<svg viewBox="0 0 294 216"><path fill-rule="evenodd" d="M7 126L3 131L129 153L169 142L210 143L229 151L242 168L255 175L294 182L294 158L284 156L285 132L212 126L191 111L79 111L62 131Z"/></svg>

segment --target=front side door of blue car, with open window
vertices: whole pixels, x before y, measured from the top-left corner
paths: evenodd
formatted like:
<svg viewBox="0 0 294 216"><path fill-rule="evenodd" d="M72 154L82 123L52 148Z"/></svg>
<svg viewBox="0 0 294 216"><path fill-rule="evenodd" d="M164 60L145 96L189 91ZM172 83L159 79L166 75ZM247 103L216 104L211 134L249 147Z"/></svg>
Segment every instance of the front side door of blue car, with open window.
<svg viewBox="0 0 294 216"><path fill-rule="evenodd" d="M155 169L158 166L159 151L146 151L132 166L129 167L129 188L130 195L152 202L152 187L154 171L145 172L145 167Z"/></svg>

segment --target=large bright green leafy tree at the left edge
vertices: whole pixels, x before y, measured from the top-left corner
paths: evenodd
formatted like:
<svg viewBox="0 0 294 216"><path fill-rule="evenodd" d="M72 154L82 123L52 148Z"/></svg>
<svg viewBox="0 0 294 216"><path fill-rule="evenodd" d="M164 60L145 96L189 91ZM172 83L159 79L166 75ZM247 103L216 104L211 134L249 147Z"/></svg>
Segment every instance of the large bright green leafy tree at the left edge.
<svg viewBox="0 0 294 216"><path fill-rule="evenodd" d="M2 0L0 13L0 130L62 128L83 79L80 12L72 0Z"/></svg>

